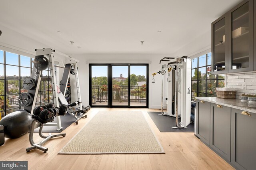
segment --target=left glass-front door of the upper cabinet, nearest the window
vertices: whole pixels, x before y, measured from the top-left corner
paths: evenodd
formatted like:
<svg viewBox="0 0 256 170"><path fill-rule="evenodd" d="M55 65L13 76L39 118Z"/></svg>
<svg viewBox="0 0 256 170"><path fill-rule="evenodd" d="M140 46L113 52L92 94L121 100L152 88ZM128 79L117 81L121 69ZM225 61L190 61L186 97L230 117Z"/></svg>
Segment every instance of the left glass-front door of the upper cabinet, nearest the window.
<svg viewBox="0 0 256 170"><path fill-rule="evenodd" d="M212 74L228 73L228 12L212 23Z"/></svg>

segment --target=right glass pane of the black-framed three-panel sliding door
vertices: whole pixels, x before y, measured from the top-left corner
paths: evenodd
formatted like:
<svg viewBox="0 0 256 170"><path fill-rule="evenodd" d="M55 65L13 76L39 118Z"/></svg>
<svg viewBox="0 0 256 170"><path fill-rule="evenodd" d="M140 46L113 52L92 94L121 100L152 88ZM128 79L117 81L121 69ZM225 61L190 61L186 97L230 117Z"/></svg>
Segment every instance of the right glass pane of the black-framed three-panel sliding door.
<svg viewBox="0 0 256 170"><path fill-rule="evenodd" d="M147 66L130 66L130 106L147 105Z"/></svg>

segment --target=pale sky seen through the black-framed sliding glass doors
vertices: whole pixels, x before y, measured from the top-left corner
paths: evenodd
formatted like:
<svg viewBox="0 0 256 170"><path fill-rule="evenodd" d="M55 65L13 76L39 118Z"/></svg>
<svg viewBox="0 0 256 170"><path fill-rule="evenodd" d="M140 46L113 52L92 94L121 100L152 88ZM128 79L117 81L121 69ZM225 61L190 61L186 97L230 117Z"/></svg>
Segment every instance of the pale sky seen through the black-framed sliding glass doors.
<svg viewBox="0 0 256 170"><path fill-rule="evenodd" d="M147 67L146 66L130 66L130 73L135 75L144 75L146 77ZM120 74L123 77L128 77L128 66L113 66L112 67L112 76L120 77ZM108 77L108 66L92 66L92 77Z"/></svg>

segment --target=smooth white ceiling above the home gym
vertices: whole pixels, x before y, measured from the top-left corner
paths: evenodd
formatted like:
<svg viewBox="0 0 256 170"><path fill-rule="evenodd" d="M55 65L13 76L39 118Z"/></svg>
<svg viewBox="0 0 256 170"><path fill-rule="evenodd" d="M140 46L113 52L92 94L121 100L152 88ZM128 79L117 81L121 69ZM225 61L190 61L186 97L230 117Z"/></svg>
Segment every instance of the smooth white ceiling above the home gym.
<svg viewBox="0 0 256 170"><path fill-rule="evenodd" d="M171 54L210 32L211 23L240 1L1 0L0 30L63 53Z"/></svg>

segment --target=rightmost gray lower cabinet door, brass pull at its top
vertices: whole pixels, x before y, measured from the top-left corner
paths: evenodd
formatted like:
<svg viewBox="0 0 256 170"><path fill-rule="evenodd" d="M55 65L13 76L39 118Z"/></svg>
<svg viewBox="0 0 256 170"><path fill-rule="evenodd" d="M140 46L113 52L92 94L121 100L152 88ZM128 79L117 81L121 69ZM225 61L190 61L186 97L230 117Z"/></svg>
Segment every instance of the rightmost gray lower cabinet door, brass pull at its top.
<svg viewBox="0 0 256 170"><path fill-rule="evenodd" d="M231 163L238 169L256 169L256 114L232 108Z"/></svg>

